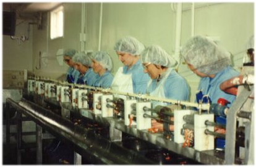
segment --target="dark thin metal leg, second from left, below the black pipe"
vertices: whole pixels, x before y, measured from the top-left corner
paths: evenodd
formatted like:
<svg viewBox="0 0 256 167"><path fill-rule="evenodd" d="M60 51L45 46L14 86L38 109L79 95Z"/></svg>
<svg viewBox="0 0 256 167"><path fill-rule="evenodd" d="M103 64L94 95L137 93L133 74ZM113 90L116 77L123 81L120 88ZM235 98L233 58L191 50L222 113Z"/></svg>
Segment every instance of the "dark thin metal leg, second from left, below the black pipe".
<svg viewBox="0 0 256 167"><path fill-rule="evenodd" d="M21 164L21 149L22 149L22 113L17 111L16 118L17 126L17 164Z"/></svg>

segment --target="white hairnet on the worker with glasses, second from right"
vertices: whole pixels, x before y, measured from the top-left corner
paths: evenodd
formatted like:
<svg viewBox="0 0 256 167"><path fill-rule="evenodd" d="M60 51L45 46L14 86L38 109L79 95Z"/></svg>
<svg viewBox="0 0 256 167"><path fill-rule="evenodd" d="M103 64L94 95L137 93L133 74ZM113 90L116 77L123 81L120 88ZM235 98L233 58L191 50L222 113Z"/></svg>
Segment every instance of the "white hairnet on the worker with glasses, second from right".
<svg viewBox="0 0 256 167"><path fill-rule="evenodd" d="M142 63L153 63L163 65L164 67L173 67L176 65L176 60L157 45L147 47L142 54L140 54L140 59Z"/></svg>

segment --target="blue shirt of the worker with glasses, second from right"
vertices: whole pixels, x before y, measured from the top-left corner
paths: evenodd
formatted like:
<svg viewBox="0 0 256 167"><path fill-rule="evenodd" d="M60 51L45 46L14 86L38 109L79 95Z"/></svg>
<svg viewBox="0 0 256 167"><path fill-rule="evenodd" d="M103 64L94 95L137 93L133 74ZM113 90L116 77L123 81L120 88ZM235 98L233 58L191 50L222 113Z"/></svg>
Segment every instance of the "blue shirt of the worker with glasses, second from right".
<svg viewBox="0 0 256 167"><path fill-rule="evenodd" d="M169 73L170 70L171 72ZM169 73L169 75L162 75L158 83L156 82L157 79L152 80L147 89L148 93L155 91L155 89L160 89L158 92L163 92L163 94L158 94L158 97L164 96L163 98L166 99L187 101L189 99L189 86L186 79L182 78L182 76L171 68L168 68L165 73Z"/></svg>

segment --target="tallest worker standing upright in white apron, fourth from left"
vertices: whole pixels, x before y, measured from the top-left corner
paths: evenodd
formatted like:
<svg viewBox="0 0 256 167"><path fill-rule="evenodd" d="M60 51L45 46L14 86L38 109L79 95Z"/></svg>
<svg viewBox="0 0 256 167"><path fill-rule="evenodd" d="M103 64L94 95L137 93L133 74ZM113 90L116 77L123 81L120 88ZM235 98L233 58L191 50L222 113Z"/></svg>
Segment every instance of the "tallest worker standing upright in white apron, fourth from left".
<svg viewBox="0 0 256 167"><path fill-rule="evenodd" d="M145 94L149 76L143 73L140 53L145 49L142 43L134 37L119 39L114 50L118 59L124 64L114 76L111 89L121 92Z"/></svg>

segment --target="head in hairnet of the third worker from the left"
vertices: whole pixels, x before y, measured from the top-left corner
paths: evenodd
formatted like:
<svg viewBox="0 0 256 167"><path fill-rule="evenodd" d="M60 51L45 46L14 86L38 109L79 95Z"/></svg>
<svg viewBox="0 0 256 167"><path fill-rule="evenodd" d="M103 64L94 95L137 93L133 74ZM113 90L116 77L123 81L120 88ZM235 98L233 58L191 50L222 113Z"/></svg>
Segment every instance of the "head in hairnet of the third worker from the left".
<svg viewBox="0 0 256 167"><path fill-rule="evenodd" d="M99 71L103 68L111 71L112 69L112 60L107 52L94 52L91 56L92 59L92 68L95 73L99 73Z"/></svg>

